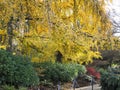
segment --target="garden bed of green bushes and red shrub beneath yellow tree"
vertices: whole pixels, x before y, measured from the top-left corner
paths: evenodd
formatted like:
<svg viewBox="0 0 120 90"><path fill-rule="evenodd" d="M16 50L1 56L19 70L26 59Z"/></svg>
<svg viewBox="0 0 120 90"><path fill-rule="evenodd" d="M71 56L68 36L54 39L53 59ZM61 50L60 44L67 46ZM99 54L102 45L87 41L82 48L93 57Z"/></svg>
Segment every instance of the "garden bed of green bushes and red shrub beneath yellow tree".
<svg viewBox="0 0 120 90"><path fill-rule="evenodd" d="M51 61L32 63L28 57L13 55L4 50L0 50L0 57L1 90L56 90L58 86L66 90L90 86L91 80L95 80L93 84L100 83L103 90L113 90L110 86L114 90L120 88L120 69L99 68L102 75L100 80L100 74L93 65ZM105 88L106 85L108 89Z"/></svg>

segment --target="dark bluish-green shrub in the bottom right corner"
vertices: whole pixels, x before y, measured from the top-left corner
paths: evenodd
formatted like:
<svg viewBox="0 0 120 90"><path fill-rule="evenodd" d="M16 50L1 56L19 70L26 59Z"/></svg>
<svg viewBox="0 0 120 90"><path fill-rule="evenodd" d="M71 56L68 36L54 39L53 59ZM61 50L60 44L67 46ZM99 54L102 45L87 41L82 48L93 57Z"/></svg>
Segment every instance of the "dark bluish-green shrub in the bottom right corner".
<svg viewBox="0 0 120 90"><path fill-rule="evenodd" d="M110 70L102 72L102 90L120 90L120 68L110 68Z"/></svg>

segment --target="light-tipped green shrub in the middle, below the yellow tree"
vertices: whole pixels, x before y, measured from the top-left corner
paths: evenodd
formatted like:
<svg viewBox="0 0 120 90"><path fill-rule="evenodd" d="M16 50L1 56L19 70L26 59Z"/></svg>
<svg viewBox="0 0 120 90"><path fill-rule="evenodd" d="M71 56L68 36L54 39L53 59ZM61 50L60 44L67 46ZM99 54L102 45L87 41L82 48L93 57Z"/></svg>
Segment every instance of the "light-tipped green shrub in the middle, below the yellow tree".
<svg viewBox="0 0 120 90"><path fill-rule="evenodd" d="M70 63L52 63L43 62L35 64L41 81L47 80L50 82L68 82L77 77L78 74L84 74L86 68L82 65Z"/></svg>

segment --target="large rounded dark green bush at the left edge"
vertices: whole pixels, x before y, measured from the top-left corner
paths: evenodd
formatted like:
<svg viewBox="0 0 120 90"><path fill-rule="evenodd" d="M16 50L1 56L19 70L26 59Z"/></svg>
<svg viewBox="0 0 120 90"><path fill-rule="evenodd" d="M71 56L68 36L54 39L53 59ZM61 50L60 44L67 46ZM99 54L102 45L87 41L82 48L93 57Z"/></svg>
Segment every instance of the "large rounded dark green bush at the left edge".
<svg viewBox="0 0 120 90"><path fill-rule="evenodd" d="M38 82L39 78L29 58L0 50L1 85L31 86Z"/></svg>

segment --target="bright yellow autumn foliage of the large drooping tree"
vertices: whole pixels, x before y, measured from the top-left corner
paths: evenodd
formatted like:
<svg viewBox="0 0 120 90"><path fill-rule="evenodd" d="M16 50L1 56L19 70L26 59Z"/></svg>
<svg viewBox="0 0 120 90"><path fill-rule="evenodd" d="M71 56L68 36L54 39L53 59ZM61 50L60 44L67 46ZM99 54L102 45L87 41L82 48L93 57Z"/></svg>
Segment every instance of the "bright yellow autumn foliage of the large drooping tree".
<svg viewBox="0 0 120 90"><path fill-rule="evenodd" d="M87 64L116 40L104 6L104 0L0 0L1 47L36 62L55 61L59 52L62 62Z"/></svg>

